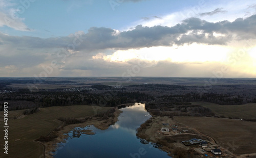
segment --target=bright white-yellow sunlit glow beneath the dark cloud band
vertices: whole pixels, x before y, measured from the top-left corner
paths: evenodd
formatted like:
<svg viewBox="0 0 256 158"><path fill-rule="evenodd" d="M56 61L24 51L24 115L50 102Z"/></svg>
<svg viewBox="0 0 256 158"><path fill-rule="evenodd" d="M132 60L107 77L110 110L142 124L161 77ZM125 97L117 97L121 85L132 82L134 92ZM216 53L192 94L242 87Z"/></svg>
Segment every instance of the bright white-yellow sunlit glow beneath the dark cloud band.
<svg viewBox="0 0 256 158"><path fill-rule="evenodd" d="M194 50L194 51L191 51ZM147 61L164 61L171 62L212 62L224 61L229 48L225 46L212 46L203 44L191 44L181 47L150 47L141 49L118 50L113 55L102 55L106 61L126 62L131 59L141 59Z"/></svg>

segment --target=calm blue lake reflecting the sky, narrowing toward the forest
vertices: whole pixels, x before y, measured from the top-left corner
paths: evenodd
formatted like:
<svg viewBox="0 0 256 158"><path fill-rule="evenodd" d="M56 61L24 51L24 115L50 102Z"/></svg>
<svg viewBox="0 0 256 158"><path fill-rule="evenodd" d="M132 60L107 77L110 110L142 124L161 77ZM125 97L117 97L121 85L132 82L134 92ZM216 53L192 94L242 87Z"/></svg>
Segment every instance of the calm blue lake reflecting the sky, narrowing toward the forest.
<svg viewBox="0 0 256 158"><path fill-rule="evenodd" d="M60 143L55 152L55 158L63 157L168 157L151 143L142 144L136 137L136 129L151 117L145 111L145 105L135 103L134 106L122 108L122 114L118 121L106 130L100 130L94 126L86 129L93 130L95 135L82 134L79 138L72 138L73 131L69 133L67 143Z"/></svg>

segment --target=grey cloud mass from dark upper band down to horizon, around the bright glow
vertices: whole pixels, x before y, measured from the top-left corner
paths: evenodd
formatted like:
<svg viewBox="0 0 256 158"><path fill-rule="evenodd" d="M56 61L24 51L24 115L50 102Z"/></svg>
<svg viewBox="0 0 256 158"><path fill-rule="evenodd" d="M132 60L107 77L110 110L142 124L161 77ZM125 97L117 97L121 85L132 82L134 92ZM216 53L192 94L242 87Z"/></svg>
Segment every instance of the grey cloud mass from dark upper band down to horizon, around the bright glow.
<svg viewBox="0 0 256 158"><path fill-rule="evenodd" d="M209 14L213 14L210 13ZM201 76L211 75L220 69L218 62L175 63L132 59L113 62L92 58L102 53L112 55L117 50L140 49L157 46L182 46L192 43L207 45L229 45L256 38L256 15L237 18L233 22L224 20L208 22L200 18L188 18L173 27L143 27L118 31L111 28L90 28L66 37L38 38L10 36L0 33L0 71L2 76L33 76L49 68L52 61L57 65L49 76L122 76L134 66L139 66L137 76ZM58 54L60 50L65 50ZM156 52L157 53L157 52ZM191 52L192 53L192 52ZM207 53L207 52L205 52ZM253 62L253 61L251 61ZM138 65L138 63L142 66ZM230 68L227 76L250 76L250 73ZM134 68L135 69L135 68ZM153 73L154 72L154 73Z"/></svg>

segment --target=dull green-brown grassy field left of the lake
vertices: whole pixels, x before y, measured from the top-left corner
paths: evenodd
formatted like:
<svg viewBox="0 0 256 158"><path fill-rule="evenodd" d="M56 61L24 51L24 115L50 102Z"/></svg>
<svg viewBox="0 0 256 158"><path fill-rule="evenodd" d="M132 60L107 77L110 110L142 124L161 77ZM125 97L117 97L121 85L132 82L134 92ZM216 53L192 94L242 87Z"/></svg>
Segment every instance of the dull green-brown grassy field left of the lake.
<svg viewBox="0 0 256 158"><path fill-rule="evenodd" d="M103 108L101 110L107 110ZM24 110L8 112L8 155L4 154L4 112L0 112L0 157L40 157L43 146L33 140L48 135L53 129L61 125L59 117L82 118L94 115L92 106L67 106L41 108L40 112L27 115L24 118L14 119L22 115Z"/></svg>

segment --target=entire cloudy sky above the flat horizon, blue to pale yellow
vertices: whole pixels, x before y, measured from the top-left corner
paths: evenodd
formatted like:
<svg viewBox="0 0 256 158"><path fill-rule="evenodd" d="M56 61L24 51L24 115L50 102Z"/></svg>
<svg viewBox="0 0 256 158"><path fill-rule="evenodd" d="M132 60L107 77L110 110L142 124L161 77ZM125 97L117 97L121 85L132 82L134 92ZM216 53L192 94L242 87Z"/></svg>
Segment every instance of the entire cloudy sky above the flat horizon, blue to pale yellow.
<svg viewBox="0 0 256 158"><path fill-rule="evenodd" d="M0 77L256 77L256 2L0 0Z"/></svg>

